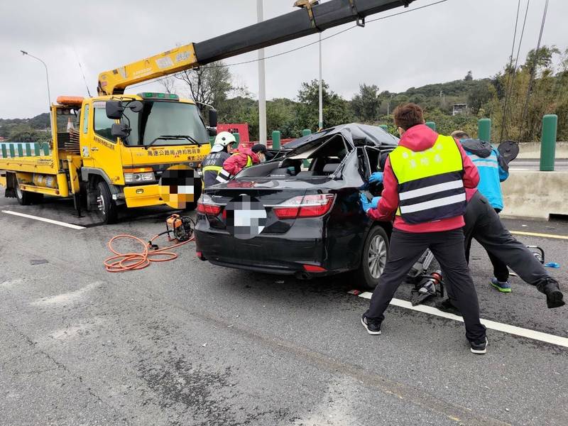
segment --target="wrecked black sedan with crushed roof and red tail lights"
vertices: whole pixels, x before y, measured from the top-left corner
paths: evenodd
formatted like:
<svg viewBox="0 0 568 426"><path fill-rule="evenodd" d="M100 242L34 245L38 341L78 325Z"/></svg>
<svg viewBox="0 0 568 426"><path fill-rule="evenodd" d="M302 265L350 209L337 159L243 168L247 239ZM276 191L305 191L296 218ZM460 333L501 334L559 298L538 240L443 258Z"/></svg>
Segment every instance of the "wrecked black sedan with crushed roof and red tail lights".
<svg viewBox="0 0 568 426"><path fill-rule="evenodd" d="M359 192L397 143L379 127L337 126L207 188L197 204L197 256L297 278L355 271L374 288L392 226L366 217ZM382 186L366 190L371 197Z"/></svg>

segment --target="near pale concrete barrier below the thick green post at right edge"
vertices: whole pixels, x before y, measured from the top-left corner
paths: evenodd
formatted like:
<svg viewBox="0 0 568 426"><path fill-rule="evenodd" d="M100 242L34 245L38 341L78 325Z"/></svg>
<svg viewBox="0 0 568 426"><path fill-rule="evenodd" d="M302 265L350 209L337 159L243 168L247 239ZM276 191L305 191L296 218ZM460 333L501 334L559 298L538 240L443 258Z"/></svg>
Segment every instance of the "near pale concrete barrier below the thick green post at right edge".
<svg viewBox="0 0 568 426"><path fill-rule="evenodd" d="M501 187L503 217L548 220L550 214L568 216L568 171L510 170Z"/></svg>

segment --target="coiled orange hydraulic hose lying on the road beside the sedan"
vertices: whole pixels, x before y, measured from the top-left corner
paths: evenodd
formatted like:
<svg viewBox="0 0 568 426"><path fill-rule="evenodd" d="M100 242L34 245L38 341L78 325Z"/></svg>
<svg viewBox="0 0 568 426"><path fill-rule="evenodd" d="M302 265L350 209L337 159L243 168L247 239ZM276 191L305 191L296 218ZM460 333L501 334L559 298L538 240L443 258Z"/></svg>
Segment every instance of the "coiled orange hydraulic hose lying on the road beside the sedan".
<svg viewBox="0 0 568 426"><path fill-rule="evenodd" d="M192 236L187 241L182 241L181 243L173 244L172 246L164 247L163 249L157 249L153 251L149 251L151 244L153 241L158 238L159 235L155 235L152 237L148 243L146 241L142 241L136 236L128 235L128 234L121 234L113 236L109 240L109 250L114 253L114 256L110 256L109 258L104 259L104 268L108 272L125 272L125 271L137 271L138 269L143 269L150 266L152 262L167 262L173 261L174 259L178 258L178 254L174 253L173 251L166 251L175 249L177 247L183 246L184 244L193 241L194 237ZM133 239L136 243L143 246L143 251L140 252L131 252L131 253L121 253L116 251L112 243L118 239Z"/></svg>

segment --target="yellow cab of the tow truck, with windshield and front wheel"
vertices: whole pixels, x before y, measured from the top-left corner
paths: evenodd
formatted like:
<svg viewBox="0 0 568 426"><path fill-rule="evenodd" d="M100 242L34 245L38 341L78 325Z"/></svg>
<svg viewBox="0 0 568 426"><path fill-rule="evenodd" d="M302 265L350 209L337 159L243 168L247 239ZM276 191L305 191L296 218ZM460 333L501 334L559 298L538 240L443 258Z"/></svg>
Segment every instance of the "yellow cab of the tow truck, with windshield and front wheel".
<svg viewBox="0 0 568 426"><path fill-rule="evenodd" d="M155 92L94 97L82 104L80 132L89 209L105 222L114 222L121 205L195 208L196 170L210 147L194 102Z"/></svg>

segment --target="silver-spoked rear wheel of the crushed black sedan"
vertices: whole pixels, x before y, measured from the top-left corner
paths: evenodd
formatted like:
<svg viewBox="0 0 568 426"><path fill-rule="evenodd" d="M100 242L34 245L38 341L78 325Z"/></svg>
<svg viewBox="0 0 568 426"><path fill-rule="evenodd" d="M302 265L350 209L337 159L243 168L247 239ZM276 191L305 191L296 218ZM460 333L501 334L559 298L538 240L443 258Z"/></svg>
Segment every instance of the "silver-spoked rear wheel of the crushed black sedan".
<svg viewBox="0 0 568 426"><path fill-rule="evenodd" d="M375 290L378 278L385 269L388 246L386 231L382 226L373 226L363 246L361 266L356 271L357 282L366 290Z"/></svg>

